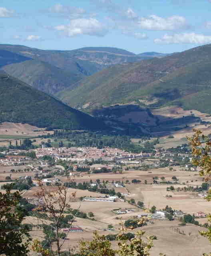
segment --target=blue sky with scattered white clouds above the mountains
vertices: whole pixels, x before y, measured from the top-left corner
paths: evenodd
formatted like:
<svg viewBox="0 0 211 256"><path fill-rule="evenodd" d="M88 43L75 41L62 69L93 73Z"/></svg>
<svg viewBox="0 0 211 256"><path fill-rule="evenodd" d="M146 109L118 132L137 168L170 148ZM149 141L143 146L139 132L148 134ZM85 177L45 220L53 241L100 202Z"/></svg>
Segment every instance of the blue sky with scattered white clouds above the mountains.
<svg viewBox="0 0 211 256"><path fill-rule="evenodd" d="M135 54L211 44L211 0L1 0L1 44L116 47Z"/></svg>

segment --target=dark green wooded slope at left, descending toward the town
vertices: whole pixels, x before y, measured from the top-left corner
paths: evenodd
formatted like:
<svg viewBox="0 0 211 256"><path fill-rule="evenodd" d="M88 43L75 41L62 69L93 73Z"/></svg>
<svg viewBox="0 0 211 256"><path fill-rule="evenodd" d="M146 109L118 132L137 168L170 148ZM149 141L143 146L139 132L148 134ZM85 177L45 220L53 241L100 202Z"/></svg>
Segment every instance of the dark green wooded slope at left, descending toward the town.
<svg viewBox="0 0 211 256"><path fill-rule="evenodd" d="M0 122L22 122L52 128L105 129L99 120L6 74L0 75L0 94Z"/></svg>

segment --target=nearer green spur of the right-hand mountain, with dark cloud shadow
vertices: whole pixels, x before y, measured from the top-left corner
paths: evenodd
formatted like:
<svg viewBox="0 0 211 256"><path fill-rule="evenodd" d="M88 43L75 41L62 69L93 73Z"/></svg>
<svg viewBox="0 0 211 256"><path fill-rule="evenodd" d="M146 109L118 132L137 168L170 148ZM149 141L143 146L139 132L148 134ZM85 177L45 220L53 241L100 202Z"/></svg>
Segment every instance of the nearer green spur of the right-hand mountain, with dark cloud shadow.
<svg viewBox="0 0 211 256"><path fill-rule="evenodd" d="M171 74L167 74L160 80L156 80L139 88L128 95L128 99L143 97L156 97L159 104L171 102L183 96L201 92L211 87L211 60L200 61L179 68ZM155 104L159 105L159 104Z"/></svg>

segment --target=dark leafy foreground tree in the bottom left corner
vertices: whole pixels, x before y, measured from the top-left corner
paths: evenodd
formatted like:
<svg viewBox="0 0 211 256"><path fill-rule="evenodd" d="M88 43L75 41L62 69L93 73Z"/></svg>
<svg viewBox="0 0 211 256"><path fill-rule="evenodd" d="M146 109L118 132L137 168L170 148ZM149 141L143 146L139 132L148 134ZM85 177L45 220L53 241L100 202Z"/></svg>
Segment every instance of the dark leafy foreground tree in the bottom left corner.
<svg viewBox="0 0 211 256"><path fill-rule="evenodd" d="M12 184L5 188L4 194L0 192L0 254L28 255L31 238L27 226L21 226L27 211L20 206L20 193L11 192Z"/></svg>

